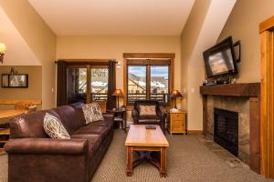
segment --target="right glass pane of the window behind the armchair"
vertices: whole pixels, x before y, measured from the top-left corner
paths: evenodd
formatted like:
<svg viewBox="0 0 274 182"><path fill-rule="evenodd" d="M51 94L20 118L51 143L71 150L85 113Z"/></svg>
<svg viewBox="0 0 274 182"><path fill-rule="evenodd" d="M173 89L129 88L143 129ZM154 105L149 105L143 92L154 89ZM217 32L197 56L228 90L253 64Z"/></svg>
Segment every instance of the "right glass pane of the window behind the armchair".
<svg viewBox="0 0 274 182"><path fill-rule="evenodd" d="M151 66L151 99L159 101L161 106L169 103L168 78L168 66Z"/></svg>

